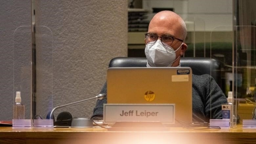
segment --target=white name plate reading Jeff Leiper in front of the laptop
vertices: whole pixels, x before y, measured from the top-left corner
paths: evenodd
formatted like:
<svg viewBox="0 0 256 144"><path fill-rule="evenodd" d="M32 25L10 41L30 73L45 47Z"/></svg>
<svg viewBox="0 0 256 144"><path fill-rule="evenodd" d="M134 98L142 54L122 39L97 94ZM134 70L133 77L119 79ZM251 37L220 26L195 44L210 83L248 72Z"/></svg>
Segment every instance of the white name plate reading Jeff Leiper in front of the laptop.
<svg viewBox="0 0 256 144"><path fill-rule="evenodd" d="M103 122L160 121L175 124L175 104L104 104Z"/></svg>

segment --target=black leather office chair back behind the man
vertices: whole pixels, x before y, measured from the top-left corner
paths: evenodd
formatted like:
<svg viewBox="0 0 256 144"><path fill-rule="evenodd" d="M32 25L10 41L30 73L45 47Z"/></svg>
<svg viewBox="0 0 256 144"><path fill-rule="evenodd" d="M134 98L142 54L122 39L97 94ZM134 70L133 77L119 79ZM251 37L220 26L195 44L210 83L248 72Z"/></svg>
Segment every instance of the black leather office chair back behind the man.
<svg viewBox="0 0 256 144"><path fill-rule="evenodd" d="M209 57L181 57L181 67L190 67L196 75L210 74L221 87L220 62ZM146 67L145 57L116 57L110 60L111 67Z"/></svg>

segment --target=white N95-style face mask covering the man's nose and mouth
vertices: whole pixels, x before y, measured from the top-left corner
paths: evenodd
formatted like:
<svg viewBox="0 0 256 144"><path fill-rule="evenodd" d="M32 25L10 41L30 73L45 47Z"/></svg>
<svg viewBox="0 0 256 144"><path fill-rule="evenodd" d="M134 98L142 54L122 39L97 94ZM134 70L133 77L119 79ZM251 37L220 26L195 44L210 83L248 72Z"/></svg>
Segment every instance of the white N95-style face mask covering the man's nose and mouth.
<svg viewBox="0 0 256 144"><path fill-rule="evenodd" d="M148 61L147 67L171 67L180 57L176 59L176 51L171 46L164 46L161 40L157 40L154 44L147 43L145 48L145 55Z"/></svg>

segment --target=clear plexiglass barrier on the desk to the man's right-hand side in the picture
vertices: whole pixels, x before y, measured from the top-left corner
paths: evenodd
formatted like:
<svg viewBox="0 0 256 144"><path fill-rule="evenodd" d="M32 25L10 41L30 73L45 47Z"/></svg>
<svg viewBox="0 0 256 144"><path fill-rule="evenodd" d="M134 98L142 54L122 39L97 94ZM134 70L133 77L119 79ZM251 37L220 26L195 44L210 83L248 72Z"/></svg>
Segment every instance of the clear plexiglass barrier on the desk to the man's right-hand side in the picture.
<svg viewBox="0 0 256 144"><path fill-rule="evenodd" d="M242 123L243 120L253 119L256 100L256 27L215 27L211 32L209 52L211 58L220 62L221 79L217 80L218 85L226 97L228 92L233 92L237 120Z"/></svg>

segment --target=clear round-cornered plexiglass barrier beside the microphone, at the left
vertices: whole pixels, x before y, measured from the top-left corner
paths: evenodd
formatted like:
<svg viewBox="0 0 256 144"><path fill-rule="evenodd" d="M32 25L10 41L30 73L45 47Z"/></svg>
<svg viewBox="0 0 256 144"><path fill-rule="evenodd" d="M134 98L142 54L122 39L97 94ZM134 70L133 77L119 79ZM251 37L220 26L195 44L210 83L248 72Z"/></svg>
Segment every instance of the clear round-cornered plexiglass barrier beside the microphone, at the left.
<svg viewBox="0 0 256 144"><path fill-rule="evenodd" d="M16 92L21 92L24 118L46 119L53 109L52 31L45 26L20 26L13 43L13 104Z"/></svg>

